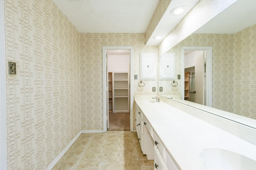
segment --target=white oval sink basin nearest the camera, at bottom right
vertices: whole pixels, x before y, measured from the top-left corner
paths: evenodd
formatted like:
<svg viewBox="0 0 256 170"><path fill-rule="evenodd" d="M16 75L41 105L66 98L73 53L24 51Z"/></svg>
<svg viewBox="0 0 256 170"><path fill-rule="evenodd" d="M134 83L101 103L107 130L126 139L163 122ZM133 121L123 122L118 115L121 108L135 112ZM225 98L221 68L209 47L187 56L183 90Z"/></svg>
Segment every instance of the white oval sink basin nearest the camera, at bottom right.
<svg viewBox="0 0 256 170"><path fill-rule="evenodd" d="M203 149L200 157L207 170L256 170L256 161L225 149Z"/></svg>

